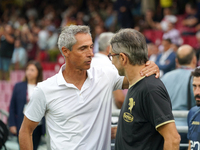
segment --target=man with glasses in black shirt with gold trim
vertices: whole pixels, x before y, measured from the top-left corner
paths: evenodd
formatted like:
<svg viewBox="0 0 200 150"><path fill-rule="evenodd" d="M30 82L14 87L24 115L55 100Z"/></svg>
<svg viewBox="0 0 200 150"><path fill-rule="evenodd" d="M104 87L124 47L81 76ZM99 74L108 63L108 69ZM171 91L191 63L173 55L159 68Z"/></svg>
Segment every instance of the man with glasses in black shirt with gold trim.
<svg viewBox="0 0 200 150"><path fill-rule="evenodd" d="M154 76L140 76L148 60L145 37L134 29L122 29L110 43L109 57L130 85L119 116L115 149L178 150L180 135L165 86Z"/></svg>

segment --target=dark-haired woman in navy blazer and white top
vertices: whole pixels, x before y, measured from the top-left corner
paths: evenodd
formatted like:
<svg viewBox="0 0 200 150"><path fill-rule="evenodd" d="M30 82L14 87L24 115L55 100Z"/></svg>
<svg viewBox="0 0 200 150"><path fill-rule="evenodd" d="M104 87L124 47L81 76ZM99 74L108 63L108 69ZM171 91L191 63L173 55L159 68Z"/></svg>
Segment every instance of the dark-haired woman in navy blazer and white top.
<svg viewBox="0 0 200 150"><path fill-rule="evenodd" d="M19 134L19 129L24 118L24 111L30 101L34 88L38 82L42 81L42 72L42 67L39 62L30 61L26 67L24 81L19 82L14 86L10 102L8 122L10 132L16 136ZM45 123L43 119L33 132L32 139L34 150L37 150L41 136L44 135L44 133Z"/></svg>

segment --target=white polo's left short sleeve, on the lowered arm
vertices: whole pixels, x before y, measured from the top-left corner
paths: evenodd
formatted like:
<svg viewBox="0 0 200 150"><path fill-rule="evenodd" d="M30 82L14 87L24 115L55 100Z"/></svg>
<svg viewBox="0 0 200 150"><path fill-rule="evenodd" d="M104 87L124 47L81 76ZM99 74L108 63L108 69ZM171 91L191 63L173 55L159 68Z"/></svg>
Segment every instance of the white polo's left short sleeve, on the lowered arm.
<svg viewBox="0 0 200 150"><path fill-rule="evenodd" d="M46 98L43 91L37 86L25 110L25 116L34 122L40 122L45 115L45 111Z"/></svg>

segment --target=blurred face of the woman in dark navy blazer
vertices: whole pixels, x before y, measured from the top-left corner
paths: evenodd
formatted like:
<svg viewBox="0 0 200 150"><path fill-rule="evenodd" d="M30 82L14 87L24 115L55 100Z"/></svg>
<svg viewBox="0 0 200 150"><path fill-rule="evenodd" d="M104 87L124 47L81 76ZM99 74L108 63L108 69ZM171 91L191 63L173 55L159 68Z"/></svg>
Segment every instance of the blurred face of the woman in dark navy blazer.
<svg viewBox="0 0 200 150"><path fill-rule="evenodd" d="M26 73L26 77L27 77L28 81L37 79L38 70L37 70L36 66L33 64L28 65L25 73Z"/></svg>

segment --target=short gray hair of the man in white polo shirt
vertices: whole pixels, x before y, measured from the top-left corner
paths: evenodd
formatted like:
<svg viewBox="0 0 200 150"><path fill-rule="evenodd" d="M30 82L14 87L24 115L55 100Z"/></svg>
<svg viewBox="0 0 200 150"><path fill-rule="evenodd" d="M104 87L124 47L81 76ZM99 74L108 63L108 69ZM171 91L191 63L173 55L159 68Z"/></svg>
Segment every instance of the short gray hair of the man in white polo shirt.
<svg viewBox="0 0 200 150"><path fill-rule="evenodd" d="M68 48L70 51L72 50L72 46L77 42L75 38L77 33L86 33L91 36L90 28L88 26L70 25L62 29L58 38L58 48L62 55L63 46Z"/></svg>

